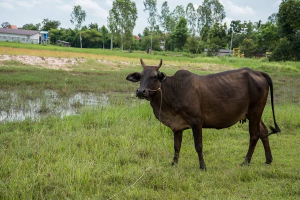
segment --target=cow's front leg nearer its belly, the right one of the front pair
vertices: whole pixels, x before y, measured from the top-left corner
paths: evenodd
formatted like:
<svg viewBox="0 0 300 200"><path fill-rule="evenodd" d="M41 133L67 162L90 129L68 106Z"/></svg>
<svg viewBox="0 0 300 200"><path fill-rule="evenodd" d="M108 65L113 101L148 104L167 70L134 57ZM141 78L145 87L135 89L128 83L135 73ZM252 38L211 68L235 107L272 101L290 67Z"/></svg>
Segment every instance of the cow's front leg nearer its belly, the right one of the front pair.
<svg viewBox="0 0 300 200"><path fill-rule="evenodd" d="M192 135L194 137L195 149L199 157L200 169L205 170L206 166L204 163L202 151L202 124L197 124L192 127Z"/></svg>

